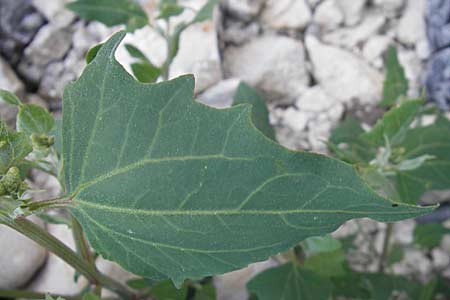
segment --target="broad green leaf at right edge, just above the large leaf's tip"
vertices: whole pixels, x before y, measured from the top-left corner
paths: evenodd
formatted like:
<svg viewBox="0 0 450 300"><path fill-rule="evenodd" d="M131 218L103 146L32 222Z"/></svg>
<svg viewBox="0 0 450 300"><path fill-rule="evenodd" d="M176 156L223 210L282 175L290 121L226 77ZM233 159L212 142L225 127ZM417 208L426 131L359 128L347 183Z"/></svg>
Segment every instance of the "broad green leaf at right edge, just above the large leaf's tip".
<svg viewBox="0 0 450 300"><path fill-rule="evenodd" d="M430 126L414 128L407 132L401 144L404 160L424 155L428 159L417 169L398 172L396 186L405 203L417 203L429 190L450 188L450 122L440 118Z"/></svg>

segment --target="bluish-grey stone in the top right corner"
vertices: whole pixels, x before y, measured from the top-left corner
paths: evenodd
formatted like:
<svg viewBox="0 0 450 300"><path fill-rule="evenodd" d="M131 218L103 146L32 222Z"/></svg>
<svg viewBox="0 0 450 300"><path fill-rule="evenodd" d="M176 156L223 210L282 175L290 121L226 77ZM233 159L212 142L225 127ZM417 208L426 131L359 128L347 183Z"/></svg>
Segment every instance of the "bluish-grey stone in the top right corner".
<svg viewBox="0 0 450 300"><path fill-rule="evenodd" d="M426 20L431 50L450 47L450 1L428 0Z"/></svg>

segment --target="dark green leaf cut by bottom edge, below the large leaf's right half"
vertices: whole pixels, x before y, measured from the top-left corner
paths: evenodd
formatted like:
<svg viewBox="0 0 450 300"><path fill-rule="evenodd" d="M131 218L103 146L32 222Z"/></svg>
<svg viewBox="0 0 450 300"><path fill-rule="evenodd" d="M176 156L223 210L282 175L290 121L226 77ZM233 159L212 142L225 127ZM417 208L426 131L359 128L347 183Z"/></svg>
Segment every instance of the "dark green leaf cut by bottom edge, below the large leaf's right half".
<svg viewBox="0 0 450 300"><path fill-rule="evenodd" d="M288 263L257 275L247 288L259 300L328 300L332 284L311 271Z"/></svg>

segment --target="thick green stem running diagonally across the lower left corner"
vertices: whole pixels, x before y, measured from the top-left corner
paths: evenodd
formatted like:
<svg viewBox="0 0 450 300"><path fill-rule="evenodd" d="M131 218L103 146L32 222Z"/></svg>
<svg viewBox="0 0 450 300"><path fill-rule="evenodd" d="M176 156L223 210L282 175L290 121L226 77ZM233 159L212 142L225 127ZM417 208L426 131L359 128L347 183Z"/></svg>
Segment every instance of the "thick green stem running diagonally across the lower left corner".
<svg viewBox="0 0 450 300"><path fill-rule="evenodd" d="M12 219L6 213L0 211L0 224L11 227L26 237L32 239L42 247L53 252L56 256L64 260L67 264L85 276L89 282L93 284L100 284L125 299L134 298L134 294L121 283L98 272L93 265L83 260L69 247L33 222L30 222L23 217Z"/></svg>

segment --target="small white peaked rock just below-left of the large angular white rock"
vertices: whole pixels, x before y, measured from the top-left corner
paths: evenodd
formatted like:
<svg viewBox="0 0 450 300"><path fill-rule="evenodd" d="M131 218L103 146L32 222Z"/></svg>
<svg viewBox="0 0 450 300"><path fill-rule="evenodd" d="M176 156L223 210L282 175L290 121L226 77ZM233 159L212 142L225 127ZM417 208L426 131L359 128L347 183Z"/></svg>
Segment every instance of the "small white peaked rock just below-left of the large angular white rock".
<svg viewBox="0 0 450 300"><path fill-rule="evenodd" d="M301 111L323 112L331 108L337 101L330 97L322 87L316 85L307 89L297 100L296 106Z"/></svg>

